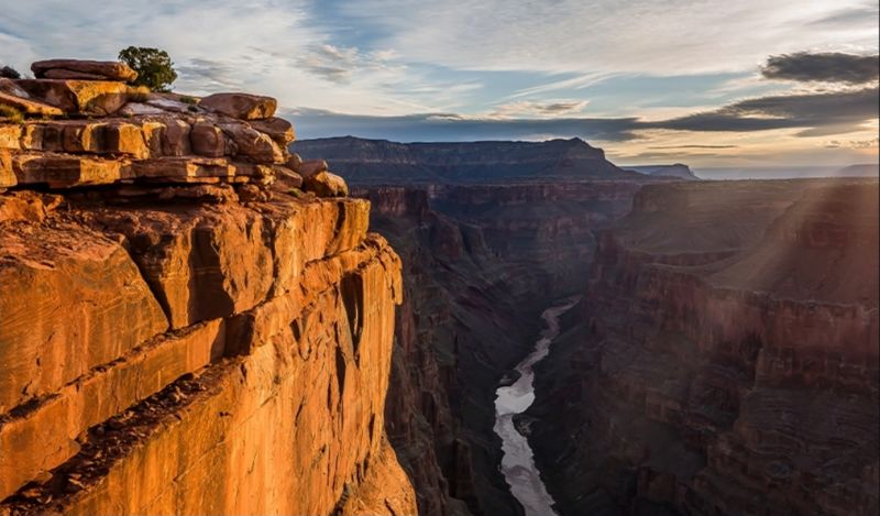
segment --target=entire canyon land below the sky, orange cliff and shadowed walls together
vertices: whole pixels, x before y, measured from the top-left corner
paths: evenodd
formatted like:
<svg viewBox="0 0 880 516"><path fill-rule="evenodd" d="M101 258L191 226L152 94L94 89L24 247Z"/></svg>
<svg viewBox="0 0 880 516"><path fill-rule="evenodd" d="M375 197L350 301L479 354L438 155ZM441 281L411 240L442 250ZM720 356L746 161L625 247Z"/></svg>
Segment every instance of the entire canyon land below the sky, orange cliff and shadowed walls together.
<svg viewBox="0 0 880 516"><path fill-rule="evenodd" d="M0 79L0 515L534 514L512 439L561 516L878 510L876 178L295 141L268 97L33 70Z"/></svg>

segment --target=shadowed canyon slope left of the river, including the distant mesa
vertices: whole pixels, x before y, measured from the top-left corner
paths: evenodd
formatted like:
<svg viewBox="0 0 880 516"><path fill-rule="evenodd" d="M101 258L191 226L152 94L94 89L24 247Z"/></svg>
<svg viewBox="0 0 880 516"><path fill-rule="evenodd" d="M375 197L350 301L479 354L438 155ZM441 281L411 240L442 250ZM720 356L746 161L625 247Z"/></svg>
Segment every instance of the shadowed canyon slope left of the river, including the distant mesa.
<svg viewBox="0 0 880 516"><path fill-rule="evenodd" d="M520 513L497 471L495 387L532 345L541 311L586 284L593 231L625 216L653 179L622 172L580 140L346 138L292 149L334 156L333 168L371 200L372 228L403 259L386 416L420 514ZM385 156L400 167L383 166Z"/></svg>

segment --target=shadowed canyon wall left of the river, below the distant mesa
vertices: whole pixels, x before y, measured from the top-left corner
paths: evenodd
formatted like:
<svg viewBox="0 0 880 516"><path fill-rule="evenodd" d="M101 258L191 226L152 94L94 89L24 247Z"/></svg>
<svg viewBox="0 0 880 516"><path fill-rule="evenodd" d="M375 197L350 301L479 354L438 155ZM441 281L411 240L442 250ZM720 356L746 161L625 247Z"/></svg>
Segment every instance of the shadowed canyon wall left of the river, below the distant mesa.
<svg viewBox="0 0 880 516"><path fill-rule="evenodd" d="M404 263L386 428L420 514L521 514L497 471L495 387L640 185L355 188Z"/></svg>

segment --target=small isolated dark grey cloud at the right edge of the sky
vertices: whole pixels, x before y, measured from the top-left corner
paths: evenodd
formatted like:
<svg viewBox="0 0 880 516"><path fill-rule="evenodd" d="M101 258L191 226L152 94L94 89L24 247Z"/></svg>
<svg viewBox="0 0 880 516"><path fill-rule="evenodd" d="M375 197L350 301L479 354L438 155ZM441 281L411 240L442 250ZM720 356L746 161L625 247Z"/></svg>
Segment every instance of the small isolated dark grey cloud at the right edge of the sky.
<svg viewBox="0 0 880 516"><path fill-rule="evenodd" d="M860 85L880 77L880 56L840 52L783 54L770 56L761 75L768 79Z"/></svg>

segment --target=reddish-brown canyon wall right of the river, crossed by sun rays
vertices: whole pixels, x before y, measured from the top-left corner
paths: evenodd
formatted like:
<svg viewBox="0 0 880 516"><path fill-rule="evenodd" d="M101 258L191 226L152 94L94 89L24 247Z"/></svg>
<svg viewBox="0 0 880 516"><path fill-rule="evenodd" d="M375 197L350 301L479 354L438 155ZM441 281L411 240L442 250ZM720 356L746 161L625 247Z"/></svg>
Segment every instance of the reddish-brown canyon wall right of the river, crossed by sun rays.
<svg viewBox="0 0 880 516"><path fill-rule="evenodd" d="M562 514L876 514L877 180L647 186L531 437Z"/></svg>

